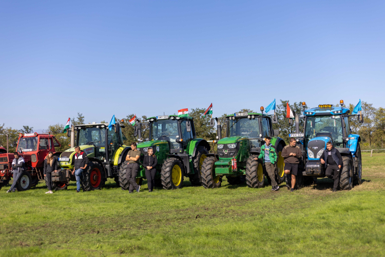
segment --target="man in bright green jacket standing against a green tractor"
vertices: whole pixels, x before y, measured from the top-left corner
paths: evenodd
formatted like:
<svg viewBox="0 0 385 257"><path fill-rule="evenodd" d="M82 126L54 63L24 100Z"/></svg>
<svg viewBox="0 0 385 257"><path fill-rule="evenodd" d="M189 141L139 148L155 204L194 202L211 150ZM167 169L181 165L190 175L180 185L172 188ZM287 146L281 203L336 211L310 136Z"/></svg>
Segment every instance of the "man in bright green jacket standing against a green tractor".
<svg viewBox="0 0 385 257"><path fill-rule="evenodd" d="M277 181L275 180L275 169L277 163L277 154L275 149L272 147L273 145L270 143L272 139L270 137L265 138L265 144L261 147L261 153L258 158L262 160L262 163L265 166L266 172L270 179L272 180L272 191L276 191L279 189ZM255 158L255 160L258 160Z"/></svg>

